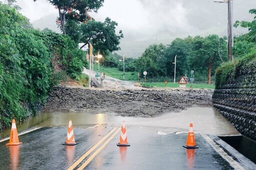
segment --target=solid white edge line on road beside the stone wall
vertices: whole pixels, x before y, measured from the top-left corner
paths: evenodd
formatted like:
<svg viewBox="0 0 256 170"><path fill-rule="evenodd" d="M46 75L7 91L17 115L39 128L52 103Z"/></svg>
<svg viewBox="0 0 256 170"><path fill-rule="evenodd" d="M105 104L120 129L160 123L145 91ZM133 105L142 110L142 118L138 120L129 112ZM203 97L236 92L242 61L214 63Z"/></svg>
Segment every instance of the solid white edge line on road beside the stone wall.
<svg viewBox="0 0 256 170"><path fill-rule="evenodd" d="M204 133L200 133L201 136L216 150L233 168L243 169L232 157L230 157L222 148L220 148L209 136Z"/></svg>

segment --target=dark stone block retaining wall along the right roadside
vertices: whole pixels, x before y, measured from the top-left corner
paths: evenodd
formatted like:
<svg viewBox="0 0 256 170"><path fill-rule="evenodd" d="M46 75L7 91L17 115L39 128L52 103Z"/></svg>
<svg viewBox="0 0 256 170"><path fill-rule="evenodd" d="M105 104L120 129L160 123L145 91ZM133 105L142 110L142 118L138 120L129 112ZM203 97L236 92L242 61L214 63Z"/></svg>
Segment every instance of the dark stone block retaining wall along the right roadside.
<svg viewBox="0 0 256 170"><path fill-rule="evenodd" d="M241 134L256 141L256 74L244 72L228 78L226 84L214 90L212 101Z"/></svg>

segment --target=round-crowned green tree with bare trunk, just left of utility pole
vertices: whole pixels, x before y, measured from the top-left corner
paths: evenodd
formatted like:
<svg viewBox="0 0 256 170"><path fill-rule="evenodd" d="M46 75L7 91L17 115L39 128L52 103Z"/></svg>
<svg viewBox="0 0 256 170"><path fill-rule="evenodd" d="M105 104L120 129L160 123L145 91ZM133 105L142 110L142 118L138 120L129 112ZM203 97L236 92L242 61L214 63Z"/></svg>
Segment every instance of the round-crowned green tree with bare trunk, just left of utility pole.
<svg viewBox="0 0 256 170"><path fill-rule="evenodd" d="M195 36L188 60L190 68L194 70L207 69L207 84L209 84L212 70L221 62L227 61L225 39L215 34L204 38Z"/></svg>

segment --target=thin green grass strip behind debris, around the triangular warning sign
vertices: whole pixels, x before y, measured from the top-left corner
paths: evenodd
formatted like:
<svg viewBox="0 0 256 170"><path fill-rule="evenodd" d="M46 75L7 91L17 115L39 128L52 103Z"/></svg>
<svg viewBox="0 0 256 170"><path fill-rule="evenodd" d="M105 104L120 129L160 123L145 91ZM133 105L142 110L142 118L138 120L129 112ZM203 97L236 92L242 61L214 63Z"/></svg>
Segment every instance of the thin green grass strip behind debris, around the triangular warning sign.
<svg viewBox="0 0 256 170"><path fill-rule="evenodd" d="M165 84L163 82L141 82L141 85L145 85L145 86L151 86L151 87L158 87L158 88L163 88L165 87ZM214 84L206 84L206 83L187 83L186 84L186 88L209 88L209 89L214 89L215 85ZM174 82L168 82L166 84L166 87L169 88L178 88L179 87L179 83L174 83Z"/></svg>

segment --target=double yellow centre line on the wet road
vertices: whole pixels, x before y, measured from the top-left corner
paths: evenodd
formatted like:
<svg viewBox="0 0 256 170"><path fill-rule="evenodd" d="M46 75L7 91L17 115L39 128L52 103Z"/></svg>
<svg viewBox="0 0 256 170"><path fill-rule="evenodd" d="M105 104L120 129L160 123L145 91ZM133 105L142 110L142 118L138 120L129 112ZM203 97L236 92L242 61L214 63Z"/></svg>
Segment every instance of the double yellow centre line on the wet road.
<svg viewBox="0 0 256 170"><path fill-rule="evenodd" d="M102 139L100 139L94 146L92 146L88 151L86 151L80 158L78 158L67 170L74 169L86 156L88 156L100 143L102 143L110 134L116 130L117 127L114 127L110 130ZM97 153L106 146L106 144L117 134L121 128L119 127L92 155L90 155L87 160L78 168L84 168L96 155Z"/></svg>

